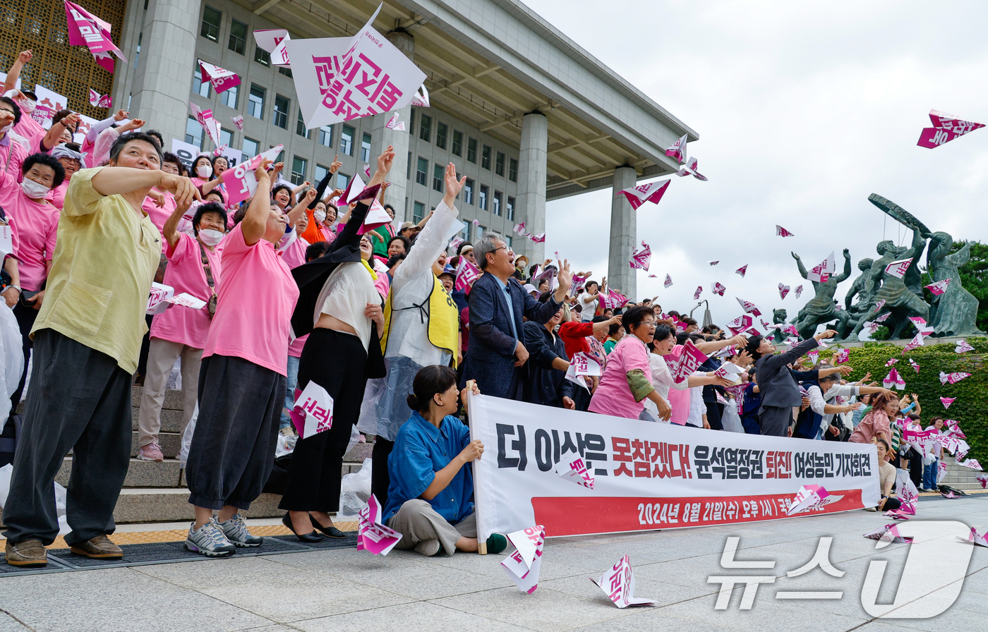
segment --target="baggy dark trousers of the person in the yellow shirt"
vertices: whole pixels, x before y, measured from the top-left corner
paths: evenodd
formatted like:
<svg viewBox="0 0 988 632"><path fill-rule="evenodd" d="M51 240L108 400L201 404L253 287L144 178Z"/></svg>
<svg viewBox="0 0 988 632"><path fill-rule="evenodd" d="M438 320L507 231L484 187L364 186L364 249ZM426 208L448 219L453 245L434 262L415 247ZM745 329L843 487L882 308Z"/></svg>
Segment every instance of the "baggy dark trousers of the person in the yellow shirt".
<svg viewBox="0 0 988 632"><path fill-rule="evenodd" d="M3 509L11 542L58 535L54 479L71 449L70 545L116 528L114 507L130 459L131 375L117 360L51 329L35 335L31 390Z"/></svg>

